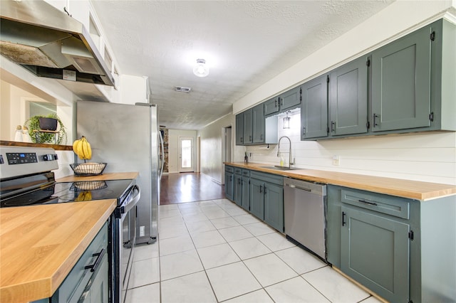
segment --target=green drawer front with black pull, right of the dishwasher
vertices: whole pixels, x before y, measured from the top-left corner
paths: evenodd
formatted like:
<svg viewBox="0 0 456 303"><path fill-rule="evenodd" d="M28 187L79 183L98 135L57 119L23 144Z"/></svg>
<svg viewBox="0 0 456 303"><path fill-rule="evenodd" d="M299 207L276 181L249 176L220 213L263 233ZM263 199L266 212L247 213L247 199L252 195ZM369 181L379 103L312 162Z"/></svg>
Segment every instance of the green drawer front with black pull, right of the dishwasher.
<svg viewBox="0 0 456 303"><path fill-rule="evenodd" d="M410 201L404 198L386 196L380 193L366 191L341 191L341 201L361 208L385 213L390 216L408 219L410 216Z"/></svg>

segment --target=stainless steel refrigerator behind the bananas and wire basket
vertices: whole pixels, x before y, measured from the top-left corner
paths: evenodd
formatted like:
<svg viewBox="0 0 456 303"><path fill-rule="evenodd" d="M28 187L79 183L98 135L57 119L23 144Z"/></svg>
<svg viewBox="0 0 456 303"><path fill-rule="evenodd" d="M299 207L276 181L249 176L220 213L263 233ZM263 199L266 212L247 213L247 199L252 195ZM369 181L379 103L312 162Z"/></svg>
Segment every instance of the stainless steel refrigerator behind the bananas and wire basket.
<svg viewBox="0 0 456 303"><path fill-rule="evenodd" d="M136 243L154 243L162 174L156 105L78 101L76 107L77 134L92 147L90 162L106 162L104 173L139 171Z"/></svg>

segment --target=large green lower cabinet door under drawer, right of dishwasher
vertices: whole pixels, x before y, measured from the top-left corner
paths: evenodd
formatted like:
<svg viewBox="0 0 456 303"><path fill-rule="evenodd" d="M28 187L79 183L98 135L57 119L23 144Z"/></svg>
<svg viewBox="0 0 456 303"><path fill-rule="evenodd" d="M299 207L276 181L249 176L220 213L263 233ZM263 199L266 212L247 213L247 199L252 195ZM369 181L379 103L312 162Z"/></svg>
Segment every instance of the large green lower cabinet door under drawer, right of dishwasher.
<svg viewBox="0 0 456 303"><path fill-rule="evenodd" d="M341 207L341 270L390 302L408 302L410 226Z"/></svg>

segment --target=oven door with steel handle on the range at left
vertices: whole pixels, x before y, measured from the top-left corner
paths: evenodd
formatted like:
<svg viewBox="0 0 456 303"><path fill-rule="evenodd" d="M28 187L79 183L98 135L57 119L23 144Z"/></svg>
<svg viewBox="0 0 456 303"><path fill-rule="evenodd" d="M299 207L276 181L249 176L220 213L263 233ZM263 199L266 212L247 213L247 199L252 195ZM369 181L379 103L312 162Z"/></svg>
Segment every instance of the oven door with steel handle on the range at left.
<svg viewBox="0 0 456 303"><path fill-rule="evenodd" d="M116 209L114 223L115 303L123 303L133 263L136 240L136 204L140 199L140 188L135 185L129 198Z"/></svg>

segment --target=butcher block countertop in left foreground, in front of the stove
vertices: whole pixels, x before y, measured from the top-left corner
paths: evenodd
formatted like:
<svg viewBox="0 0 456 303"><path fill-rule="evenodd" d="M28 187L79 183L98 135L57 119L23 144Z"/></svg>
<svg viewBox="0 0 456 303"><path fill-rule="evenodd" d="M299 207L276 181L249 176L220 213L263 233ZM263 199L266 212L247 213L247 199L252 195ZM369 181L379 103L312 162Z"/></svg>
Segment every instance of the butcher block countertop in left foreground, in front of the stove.
<svg viewBox="0 0 456 303"><path fill-rule="evenodd" d="M0 302L51 297L115 206L106 199L0 208Z"/></svg>

